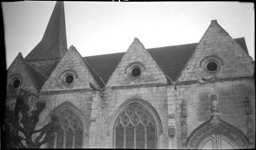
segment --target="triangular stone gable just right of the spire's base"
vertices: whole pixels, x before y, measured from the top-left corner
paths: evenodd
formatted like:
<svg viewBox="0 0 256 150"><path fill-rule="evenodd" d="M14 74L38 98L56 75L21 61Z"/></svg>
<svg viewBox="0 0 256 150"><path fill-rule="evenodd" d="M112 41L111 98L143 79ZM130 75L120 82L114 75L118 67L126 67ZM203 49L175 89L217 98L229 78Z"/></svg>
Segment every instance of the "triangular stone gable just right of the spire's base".
<svg viewBox="0 0 256 150"><path fill-rule="evenodd" d="M41 91L88 89L89 82L100 87L87 65L76 48L70 46L49 75ZM72 77L69 78L69 75Z"/></svg>

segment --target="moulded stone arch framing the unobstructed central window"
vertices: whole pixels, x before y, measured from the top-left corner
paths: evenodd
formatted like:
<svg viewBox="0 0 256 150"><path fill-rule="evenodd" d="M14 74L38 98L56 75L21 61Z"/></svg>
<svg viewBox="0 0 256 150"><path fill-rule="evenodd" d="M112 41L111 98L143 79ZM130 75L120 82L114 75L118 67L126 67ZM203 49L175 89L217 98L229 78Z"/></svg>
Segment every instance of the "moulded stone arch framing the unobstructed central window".
<svg viewBox="0 0 256 150"><path fill-rule="evenodd" d="M139 97L132 97L128 100L126 100L123 104L121 104L111 115L111 120L108 125L108 133L110 133L110 139L111 139L111 144L110 147L113 148L113 129L114 125L116 123L117 118L122 114L122 112L129 107L132 104L137 104L139 106L142 106L144 109L146 109L150 115L153 117L154 121L156 122L156 127L157 127L157 136L162 133L162 123L160 116L158 115L156 109L147 101L139 98ZM159 140L157 146L159 147Z"/></svg>

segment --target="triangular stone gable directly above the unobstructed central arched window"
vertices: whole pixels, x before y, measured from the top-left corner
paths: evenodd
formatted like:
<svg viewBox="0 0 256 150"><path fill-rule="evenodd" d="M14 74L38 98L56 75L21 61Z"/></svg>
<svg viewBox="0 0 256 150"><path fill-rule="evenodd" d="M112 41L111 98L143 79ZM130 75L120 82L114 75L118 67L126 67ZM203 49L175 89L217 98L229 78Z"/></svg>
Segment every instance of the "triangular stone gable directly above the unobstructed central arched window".
<svg viewBox="0 0 256 150"><path fill-rule="evenodd" d="M110 76L106 87L166 83L167 79L163 71L139 39L134 38Z"/></svg>

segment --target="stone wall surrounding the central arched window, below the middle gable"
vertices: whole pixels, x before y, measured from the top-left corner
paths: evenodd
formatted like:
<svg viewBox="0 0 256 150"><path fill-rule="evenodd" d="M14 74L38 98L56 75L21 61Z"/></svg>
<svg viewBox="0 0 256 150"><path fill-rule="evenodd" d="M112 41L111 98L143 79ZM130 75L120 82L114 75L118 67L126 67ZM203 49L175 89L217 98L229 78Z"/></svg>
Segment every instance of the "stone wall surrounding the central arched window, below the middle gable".
<svg viewBox="0 0 256 150"><path fill-rule="evenodd" d="M168 118L167 118L167 87L125 87L125 88L105 88L103 91L103 106L102 108L102 130L101 130L101 148L110 148L113 140L113 133L110 133L111 117L117 108L133 97L139 97L150 103L162 123L162 133L159 134L159 148L168 149ZM159 132L160 133L160 132Z"/></svg>

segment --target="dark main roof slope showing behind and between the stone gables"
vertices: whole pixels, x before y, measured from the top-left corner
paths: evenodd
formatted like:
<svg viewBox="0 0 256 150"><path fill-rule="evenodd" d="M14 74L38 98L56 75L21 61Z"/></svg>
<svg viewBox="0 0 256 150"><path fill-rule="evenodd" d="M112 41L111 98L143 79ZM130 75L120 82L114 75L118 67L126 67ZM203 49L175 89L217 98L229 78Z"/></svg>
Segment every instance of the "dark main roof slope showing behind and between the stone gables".
<svg viewBox="0 0 256 150"><path fill-rule="evenodd" d="M247 53L244 37L234 39ZM147 51L162 71L173 81L176 80L198 43L149 48ZM125 52L83 57L91 68L106 83ZM95 79L101 82L97 77Z"/></svg>

